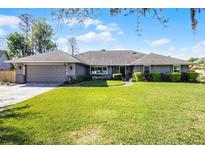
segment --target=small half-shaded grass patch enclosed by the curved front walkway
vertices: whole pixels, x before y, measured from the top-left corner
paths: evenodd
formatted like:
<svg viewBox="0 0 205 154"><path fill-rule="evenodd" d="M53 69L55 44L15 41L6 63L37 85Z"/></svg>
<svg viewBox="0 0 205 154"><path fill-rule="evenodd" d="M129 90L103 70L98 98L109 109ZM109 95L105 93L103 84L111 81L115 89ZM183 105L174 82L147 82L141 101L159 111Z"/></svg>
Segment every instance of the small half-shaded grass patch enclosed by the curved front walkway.
<svg viewBox="0 0 205 154"><path fill-rule="evenodd" d="M111 86L121 86L125 83L120 80L92 80L86 81L81 84L84 87L111 87Z"/></svg>

